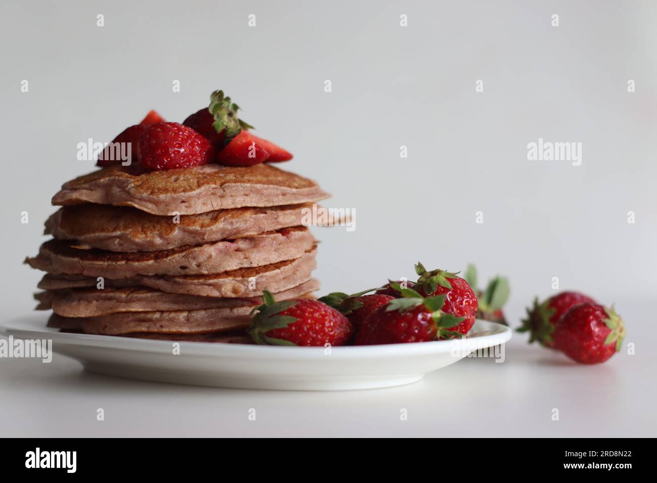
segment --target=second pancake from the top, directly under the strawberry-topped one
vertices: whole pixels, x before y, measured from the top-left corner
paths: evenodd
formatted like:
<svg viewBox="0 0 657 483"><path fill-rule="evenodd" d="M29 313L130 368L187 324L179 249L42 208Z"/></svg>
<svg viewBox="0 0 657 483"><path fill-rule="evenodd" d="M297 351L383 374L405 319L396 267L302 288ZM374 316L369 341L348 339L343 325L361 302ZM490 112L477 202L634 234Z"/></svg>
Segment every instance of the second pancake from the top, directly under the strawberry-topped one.
<svg viewBox="0 0 657 483"><path fill-rule="evenodd" d="M80 204L60 208L45 234L112 252L154 252L236 239L302 225L311 203L271 208L233 208L198 215L157 216L127 206Z"/></svg>

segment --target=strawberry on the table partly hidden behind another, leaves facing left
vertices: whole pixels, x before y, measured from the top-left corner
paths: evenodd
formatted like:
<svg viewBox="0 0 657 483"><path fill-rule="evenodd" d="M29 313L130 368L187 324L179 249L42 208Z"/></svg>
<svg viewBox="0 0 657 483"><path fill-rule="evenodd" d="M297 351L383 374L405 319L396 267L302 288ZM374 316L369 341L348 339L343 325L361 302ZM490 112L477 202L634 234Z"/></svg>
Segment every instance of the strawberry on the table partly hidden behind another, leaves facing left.
<svg viewBox="0 0 657 483"><path fill-rule="evenodd" d="M556 322L566 310L584 302L595 303L595 300L579 292L561 292L543 300L540 304L537 297L533 301L532 308L527 308L527 317L522 320L518 332L530 333L530 344L537 340L541 346L553 348L552 334Z"/></svg>

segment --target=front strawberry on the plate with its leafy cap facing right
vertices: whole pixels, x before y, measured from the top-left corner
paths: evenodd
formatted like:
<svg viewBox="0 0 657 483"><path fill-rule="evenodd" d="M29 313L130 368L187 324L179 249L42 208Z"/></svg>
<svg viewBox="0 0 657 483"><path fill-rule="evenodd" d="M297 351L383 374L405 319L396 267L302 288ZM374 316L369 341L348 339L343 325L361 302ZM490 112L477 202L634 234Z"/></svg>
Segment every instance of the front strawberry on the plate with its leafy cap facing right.
<svg viewBox="0 0 657 483"><path fill-rule="evenodd" d="M356 334L355 345L428 342L460 335L449 329L457 326L461 317L441 310L444 294L422 297L412 288L399 291L402 298L392 299L367 316Z"/></svg>

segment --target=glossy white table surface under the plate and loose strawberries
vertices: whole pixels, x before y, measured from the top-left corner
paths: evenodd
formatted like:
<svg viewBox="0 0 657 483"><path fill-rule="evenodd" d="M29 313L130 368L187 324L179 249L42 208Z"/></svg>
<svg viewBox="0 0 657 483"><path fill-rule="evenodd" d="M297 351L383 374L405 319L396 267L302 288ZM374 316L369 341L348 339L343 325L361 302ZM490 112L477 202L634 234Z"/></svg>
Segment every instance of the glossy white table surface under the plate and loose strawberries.
<svg viewBox="0 0 657 483"><path fill-rule="evenodd" d="M623 304L625 321L648 308ZM627 325L636 354L604 364L577 365L514 334L504 363L463 359L415 384L351 392L123 380L57 354L49 364L0 359L0 428L3 436L655 436L656 337L647 323Z"/></svg>

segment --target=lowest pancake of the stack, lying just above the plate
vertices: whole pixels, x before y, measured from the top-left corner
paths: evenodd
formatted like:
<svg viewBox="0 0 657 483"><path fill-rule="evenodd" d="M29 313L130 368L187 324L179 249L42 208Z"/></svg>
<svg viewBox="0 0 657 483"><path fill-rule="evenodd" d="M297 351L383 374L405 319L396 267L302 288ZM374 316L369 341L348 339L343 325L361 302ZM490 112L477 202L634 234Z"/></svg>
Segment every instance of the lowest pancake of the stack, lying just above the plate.
<svg viewBox="0 0 657 483"><path fill-rule="evenodd" d="M158 334L204 334L246 329L252 307L225 309L123 312L99 317L62 317L53 313L48 327L81 330L85 334L117 335L133 332Z"/></svg>

